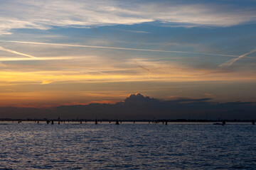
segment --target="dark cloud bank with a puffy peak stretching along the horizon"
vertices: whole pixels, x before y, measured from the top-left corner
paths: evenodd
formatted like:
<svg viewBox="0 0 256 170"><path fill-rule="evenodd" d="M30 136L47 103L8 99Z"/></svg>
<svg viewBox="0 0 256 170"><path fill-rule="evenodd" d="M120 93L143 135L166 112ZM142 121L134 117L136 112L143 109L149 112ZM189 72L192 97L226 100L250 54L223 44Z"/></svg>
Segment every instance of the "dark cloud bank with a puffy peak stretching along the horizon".
<svg viewBox="0 0 256 170"><path fill-rule="evenodd" d="M65 119L256 119L255 102L214 103L211 98L179 98L161 101L142 94L131 94L115 104L42 108L0 108L1 118L65 118Z"/></svg>

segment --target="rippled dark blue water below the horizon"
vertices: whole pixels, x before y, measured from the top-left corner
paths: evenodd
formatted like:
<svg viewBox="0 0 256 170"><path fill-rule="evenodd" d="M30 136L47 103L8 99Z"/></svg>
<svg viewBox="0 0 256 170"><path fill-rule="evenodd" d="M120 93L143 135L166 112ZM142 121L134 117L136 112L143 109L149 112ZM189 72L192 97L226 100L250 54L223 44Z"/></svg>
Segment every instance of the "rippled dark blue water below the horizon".
<svg viewBox="0 0 256 170"><path fill-rule="evenodd" d="M256 169L256 125L0 123L0 169Z"/></svg>

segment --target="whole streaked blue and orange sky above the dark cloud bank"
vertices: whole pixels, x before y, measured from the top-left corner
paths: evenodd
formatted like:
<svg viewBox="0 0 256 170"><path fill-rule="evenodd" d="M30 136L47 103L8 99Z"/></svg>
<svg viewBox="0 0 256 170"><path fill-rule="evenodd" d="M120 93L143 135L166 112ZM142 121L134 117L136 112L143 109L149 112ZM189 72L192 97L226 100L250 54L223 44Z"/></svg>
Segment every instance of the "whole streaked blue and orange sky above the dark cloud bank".
<svg viewBox="0 0 256 170"><path fill-rule="evenodd" d="M256 102L256 1L0 0L0 107Z"/></svg>

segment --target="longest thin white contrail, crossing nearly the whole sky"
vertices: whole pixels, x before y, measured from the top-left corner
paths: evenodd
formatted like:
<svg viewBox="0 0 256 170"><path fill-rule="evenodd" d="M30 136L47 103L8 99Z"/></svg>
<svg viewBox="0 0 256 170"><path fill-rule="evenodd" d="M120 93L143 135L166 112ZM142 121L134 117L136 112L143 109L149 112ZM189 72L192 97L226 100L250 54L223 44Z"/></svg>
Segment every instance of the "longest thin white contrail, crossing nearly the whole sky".
<svg viewBox="0 0 256 170"><path fill-rule="evenodd" d="M147 52L174 52L174 53L194 54L194 55L215 55L215 56L225 56L225 57L239 57L238 55L223 55L223 54L212 54L212 53L201 53L201 52L151 50L151 49L126 48L126 47L105 47L105 46L95 46L95 45L72 45L72 44L60 44L60 43L48 43L48 42L26 42L26 41L6 41L6 40L0 40L0 42L13 42L13 43L33 44L33 45L56 45L56 46L65 46L65 47L88 47L88 48L102 48L102 49L113 49L113 50L132 50L132 51L147 51Z"/></svg>

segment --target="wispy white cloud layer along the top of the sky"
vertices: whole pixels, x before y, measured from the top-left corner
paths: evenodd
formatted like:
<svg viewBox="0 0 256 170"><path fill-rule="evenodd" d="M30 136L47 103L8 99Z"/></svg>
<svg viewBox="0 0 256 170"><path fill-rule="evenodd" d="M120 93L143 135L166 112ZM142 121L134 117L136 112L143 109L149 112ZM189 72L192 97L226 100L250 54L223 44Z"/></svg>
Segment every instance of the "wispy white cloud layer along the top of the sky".
<svg viewBox="0 0 256 170"><path fill-rule="evenodd" d="M168 1L9 0L1 1L0 34L9 34L15 28L88 28L153 21L178 26L226 27L255 22L255 8L249 7Z"/></svg>

